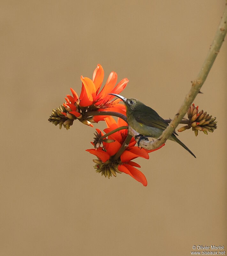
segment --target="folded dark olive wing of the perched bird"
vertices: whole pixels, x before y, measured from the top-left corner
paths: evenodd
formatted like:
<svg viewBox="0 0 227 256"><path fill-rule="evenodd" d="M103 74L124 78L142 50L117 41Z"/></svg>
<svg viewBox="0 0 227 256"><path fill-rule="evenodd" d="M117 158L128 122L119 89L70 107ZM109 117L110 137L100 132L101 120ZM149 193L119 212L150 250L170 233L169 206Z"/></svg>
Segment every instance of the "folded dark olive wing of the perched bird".
<svg viewBox="0 0 227 256"><path fill-rule="evenodd" d="M156 111L148 106L144 111L133 111L132 115L137 122L150 127L165 130L169 125ZM173 133L178 135L175 131Z"/></svg>

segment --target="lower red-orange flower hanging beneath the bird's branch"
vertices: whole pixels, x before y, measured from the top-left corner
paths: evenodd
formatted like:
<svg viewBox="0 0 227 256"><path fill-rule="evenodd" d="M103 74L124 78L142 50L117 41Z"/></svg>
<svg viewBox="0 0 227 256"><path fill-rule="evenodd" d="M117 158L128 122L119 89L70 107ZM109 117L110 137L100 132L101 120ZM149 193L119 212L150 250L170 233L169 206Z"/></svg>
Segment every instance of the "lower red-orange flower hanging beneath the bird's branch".
<svg viewBox="0 0 227 256"><path fill-rule="evenodd" d="M127 125L124 120L118 118L118 121L116 122L111 116L105 118L105 121L108 127L104 129L105 133L109 133L118 127ZM98 133L100 133L99 129L96 130ZM148 183L146 177L140 170L135 168L140 168L140 165L132 160L137 157L149 159L148 153L158 150L165 144L155 150L146 150L144 148L140 149L139 147L135 146L136 141L132 137L126 150L121 154L121 156L119 156L118 159L115 159L114 156L123 145L127 133L127 129L117 131L108 136L108 139L114 140L114 142L106 143L103 141L103 147L99 147L98 149L87 149L86 151L98 157L98 160L93 160L96 163L95 169L97 169L97 172L102 172L102 175L104 174L105 177L108 176L108 178L110 178L112 174L116 176L116 172L124 172L141 182L143 186L147 186ZM104 134L101 132L101 135L103 136Z"/></svg>

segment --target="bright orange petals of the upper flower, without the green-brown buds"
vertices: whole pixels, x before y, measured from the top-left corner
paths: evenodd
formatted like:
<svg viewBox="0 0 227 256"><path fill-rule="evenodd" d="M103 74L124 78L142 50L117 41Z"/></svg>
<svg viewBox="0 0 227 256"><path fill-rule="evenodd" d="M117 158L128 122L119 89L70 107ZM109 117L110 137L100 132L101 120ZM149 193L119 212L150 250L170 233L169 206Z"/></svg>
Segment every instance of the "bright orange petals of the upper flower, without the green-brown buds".
<svg viewBox="0 0 227 256"><path fill-rule="evenodd" d="M92 80L88 77L80 77L82 81L80 96L78 97L77 93L72 88L70 88L72 96L66 95L66 103L63 104L65 108L67 108L67 106L70 108L71 111L69 113L74 115L76 118L81 118L81 114L86 111L108 110L125 114L125 106L119 104L120 99L111 101L114 96L109 95L109 93L119 94L125 89L129 80L124 78L116 85L117 73L112 71L107 79L106 84L100 91L103 78L104 70L100 64L97 65L97 68L93 73ZM105 117L107 116L94 116L92 121L98 122L100 120L104 120Z"/></svg>

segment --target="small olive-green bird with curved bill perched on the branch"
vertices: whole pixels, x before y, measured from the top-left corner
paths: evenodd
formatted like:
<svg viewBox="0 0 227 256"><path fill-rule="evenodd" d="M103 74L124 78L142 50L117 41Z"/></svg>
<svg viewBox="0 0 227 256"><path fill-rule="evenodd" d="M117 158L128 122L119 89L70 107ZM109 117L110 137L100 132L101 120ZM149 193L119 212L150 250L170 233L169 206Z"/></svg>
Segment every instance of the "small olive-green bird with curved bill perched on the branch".
<svg viewBox="0 0 227 256"><path fill-rule="evenodd" d="M139 135L135 136L135 138L140 136L138 146L141 139L148 140L148 137L159 138L163 131L168 127L169 124L162 117L160 117L155 110L146 106L139 100L134 98L127 99L121 95L113 93L110 93L110 95L120 98L125 103L128 124L139 133ZM185 146L185 144L181 142L176 135L178 136L178 134L174 131L168 139L180 144L189 153L191 153L193 157L196 158L192 151Z"/></svg>

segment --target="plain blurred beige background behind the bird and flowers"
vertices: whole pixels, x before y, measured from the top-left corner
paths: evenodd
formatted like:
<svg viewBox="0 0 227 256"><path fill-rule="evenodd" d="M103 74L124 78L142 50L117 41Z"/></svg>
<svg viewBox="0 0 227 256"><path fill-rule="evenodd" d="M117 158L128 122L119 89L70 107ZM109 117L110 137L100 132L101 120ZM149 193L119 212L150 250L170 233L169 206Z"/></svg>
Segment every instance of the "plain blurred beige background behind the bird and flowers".
<svg viewBox="0 0 227 256"><path fill-rule="evenodd" d="M191 255L193 245L227 247L227 44L195 99L216 116L137 159L143 187L126 174L93 169L95 128L48 122L80 75L101 63L106 81L172 118L196 78L225 1L2 1L0 255Z"/></svg>

